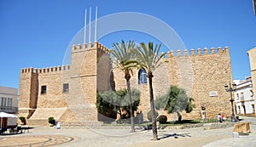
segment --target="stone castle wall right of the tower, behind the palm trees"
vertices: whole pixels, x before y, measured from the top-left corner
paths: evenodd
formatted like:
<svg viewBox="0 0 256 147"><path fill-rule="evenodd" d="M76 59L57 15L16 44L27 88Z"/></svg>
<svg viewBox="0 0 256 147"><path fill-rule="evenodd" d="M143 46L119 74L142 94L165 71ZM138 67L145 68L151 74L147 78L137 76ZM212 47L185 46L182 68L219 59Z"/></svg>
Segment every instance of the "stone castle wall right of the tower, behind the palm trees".
<svg viewBox="0 0 256 147"><path fill-rule="evenodd" d="M211 48L208 52L207 48L204 48L203 54L201 49L197 50L197 54L194 49L190 54L187 50L183 54L178 50L176 55L174 51L169 52L165 58L168 63L154 71L154 99L166 94L171 85L177 85L195 99L196 108L189 114L183 113L185 119L201 118L201 105L206 107L207 117L214 118L218 113L230 116L230 93L224 90L224 84L232 81L229 48L218 48L217 52ZM150 110L148 84L138 84L138 71L135 69L133 73L131 88L142 92L140 109L147 114ZM124 73L119 70L114 70L114 81L116 89L126 87ZM209 96L213 91L218 95Z"/></svg>

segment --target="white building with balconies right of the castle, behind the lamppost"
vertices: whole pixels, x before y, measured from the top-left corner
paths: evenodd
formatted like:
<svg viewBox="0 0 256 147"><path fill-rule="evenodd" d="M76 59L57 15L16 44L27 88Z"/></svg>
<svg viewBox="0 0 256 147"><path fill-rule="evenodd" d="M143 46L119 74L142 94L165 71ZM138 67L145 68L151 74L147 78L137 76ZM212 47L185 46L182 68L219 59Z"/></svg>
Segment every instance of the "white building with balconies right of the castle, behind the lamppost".
<svg viewBox="0 0 256 147"><path fill-rule="evenodd" d="M251 76L246 80L235 80L236 115L253 116L255 114L253 82Z"/></svg>

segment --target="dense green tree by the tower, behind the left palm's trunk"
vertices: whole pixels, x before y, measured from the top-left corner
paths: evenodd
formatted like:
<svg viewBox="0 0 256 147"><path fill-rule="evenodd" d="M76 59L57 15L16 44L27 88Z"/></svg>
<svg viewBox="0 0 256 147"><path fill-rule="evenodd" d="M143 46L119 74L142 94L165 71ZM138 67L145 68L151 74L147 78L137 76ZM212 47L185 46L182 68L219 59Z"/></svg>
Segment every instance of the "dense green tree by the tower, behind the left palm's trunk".
<svg viewBox="0 0 256 147"><path fill-rule="evenodd" d="M122 119L125 119L126 117L121 114L122 110L125 110L128 113L128 116L131 116L128 97L126 89L97 93L97 110L103 116L116 118L117 114L119 114ZM131 99L133 101L131 105L133 110L132 113L134 113L140 104L140 91L135 88L131 89Z"/></svg>

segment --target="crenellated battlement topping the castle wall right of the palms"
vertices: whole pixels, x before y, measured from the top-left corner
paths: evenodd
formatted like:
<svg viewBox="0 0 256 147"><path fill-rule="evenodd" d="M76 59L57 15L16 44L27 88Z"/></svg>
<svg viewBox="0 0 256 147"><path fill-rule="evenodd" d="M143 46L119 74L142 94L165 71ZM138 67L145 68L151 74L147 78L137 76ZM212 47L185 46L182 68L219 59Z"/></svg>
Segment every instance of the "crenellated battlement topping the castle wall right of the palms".
<svg viewBox="0 0 256 147"><path fill-rule="evenodd" d="M183 54L182 51L180 49L177 49L177 52L175 54L175 52L173 50L169 51L167 53L167 58L172 58L172 57L186 57L186 56L200 56L200 55L207 55L207 54L222 54L224 52L229 52L229 47L225 47L224 49L222 49L221 47L218 47L217 50L215 48L197 48L196 52L197 54L195 54L195 49L192 48L190 49L190 54L188 53L188 49L184 49L183 50Z"/></svg>

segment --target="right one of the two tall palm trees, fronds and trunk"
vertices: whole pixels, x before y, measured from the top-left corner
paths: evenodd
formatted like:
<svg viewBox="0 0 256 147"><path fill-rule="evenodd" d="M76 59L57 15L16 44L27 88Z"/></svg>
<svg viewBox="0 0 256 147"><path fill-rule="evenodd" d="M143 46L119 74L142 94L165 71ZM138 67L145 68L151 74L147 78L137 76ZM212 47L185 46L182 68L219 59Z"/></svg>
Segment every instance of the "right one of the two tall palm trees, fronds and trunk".
<svg viewBox="0 0 256 147"><path fill-rule="evenodd" d="M147 77L149 82L149 94L150 94L150 107L152 111L152 130L153 130L153 139L158 140L157 127L156 127L156 118L155 118L155 109L154 109L154 93L152 87L153 72L157 69L163 62L162 58L165 54L160 54L161 45L153 46L153 42L148 42L148 46L144 42L140 43L140 46L134 50L137 60L141 65L141 68L144 68L147 71Z"/></svg>

